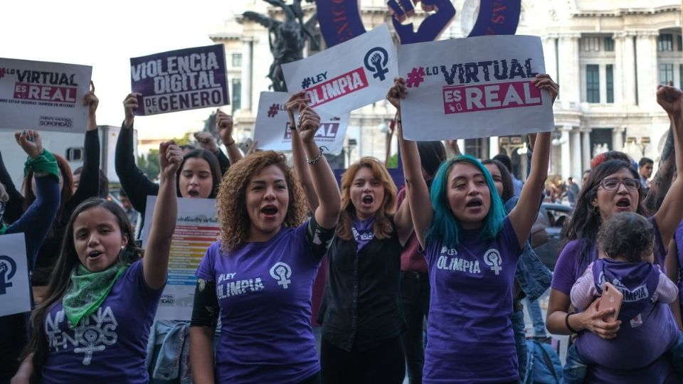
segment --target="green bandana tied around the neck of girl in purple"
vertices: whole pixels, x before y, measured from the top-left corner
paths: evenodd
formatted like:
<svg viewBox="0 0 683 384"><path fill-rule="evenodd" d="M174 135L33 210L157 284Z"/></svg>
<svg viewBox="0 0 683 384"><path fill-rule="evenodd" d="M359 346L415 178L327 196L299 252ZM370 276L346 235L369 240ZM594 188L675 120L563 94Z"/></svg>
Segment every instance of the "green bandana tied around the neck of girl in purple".
<svg viewBox="0 0 683 384"><path fill-rule="evenodd" d="M78 325L80 319L90 316L105 301L114 283L121 277L128 266L117 262L100 272L90 272L83 264L71 271L71 284L62 299L64 312L71 328Z"/></svg>

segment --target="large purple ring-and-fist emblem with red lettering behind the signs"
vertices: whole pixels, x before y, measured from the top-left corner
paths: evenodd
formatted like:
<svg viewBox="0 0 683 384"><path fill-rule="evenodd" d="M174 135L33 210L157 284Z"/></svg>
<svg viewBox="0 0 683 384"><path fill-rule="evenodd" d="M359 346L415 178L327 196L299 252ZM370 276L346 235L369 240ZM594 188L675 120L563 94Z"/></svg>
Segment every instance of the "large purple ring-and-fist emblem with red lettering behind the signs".
<svg viewBox="0 0 683 384"><path fill-rule="evenodd" d="M434 11L414 31L413 23L402 22L415 11L415 5L425 11ZM413 4L414 3L414 4ZM365 33L361 18L361 0L316 0L320 31L328 47L350 40ZM455 7L450 0L388 0L393 14L393 27L401 44L434 41L455 17ZM477 21L469 37L485 35L514 35L519 23L521 0L481 0Z"/></svg>

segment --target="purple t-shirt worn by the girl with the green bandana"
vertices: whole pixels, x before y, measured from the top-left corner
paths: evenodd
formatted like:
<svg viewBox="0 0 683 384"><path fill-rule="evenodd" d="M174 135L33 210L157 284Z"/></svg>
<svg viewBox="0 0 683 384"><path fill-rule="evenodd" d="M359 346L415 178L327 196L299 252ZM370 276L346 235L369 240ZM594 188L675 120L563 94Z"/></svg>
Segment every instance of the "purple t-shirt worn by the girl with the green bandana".
<svg viewBox="0 0 683 384"><path fill-rule="evenodd" d="M75 329L55 303L44 323L50 352L42 383L147 383L147 338L162 291L144 281L139 260Z"/></svg>

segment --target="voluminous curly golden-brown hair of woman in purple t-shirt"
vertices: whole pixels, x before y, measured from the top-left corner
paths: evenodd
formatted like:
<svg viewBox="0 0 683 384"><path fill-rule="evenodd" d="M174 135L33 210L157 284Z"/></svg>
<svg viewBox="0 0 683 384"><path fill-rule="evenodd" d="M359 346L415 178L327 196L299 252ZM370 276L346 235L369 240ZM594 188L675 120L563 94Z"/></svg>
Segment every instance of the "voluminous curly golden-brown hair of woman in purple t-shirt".
<svg viewBox="0 0 683 384"><path fill-rule="evenodd" d="M247 212L247 187L251 178L268 166L275 165L285 174L290 202L284 224L297 227L307 217L307 207L299 180L287 166L285 155L275 151L260 151L246 156L231 166L223 176L216 196L218 223L221 225L221 250L231 251L244 245L251 221Z"/></svg>

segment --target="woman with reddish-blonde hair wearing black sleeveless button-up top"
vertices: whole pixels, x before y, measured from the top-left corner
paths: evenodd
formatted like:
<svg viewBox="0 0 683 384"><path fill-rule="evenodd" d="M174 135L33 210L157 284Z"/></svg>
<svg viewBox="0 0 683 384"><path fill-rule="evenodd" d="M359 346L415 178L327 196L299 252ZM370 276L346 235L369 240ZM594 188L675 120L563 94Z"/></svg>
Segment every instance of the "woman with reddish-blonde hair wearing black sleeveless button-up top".
<svg viewBox="0 0 683 384"><path fill-rule="evenodd" d="M320 360L323 383L401 383L401 250L413 232L396 185L364 157L342 175L342 214L329 248Z"/></svg>

